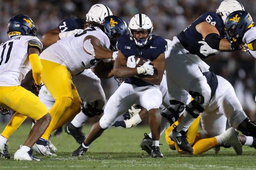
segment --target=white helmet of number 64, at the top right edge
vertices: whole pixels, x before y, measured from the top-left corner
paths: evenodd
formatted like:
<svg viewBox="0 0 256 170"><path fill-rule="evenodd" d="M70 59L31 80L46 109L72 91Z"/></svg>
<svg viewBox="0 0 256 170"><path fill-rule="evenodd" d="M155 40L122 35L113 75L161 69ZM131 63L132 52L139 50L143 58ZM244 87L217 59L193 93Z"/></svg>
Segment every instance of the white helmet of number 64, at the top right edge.
<svg viewBox="0 0 256 170"><path fill-rule="evenodd" d="M244 6L240 2L236 0L225 0L220 3L220 6L217 9L216 13L220 15L223 23L225 24L227 16L230 13L238 10L244 11Z"/></svg>

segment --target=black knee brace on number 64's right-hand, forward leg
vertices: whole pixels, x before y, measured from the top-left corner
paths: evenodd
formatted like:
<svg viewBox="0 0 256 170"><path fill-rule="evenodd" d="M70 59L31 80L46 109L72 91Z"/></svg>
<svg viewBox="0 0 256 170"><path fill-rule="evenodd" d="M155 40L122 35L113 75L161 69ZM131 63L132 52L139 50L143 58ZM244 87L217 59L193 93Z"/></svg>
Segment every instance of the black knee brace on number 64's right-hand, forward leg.
<svg viewBox="0 0 256 170"><path fill-rule="evenodd" d="M185 109L190 115L197 118L200 113L204 112L204 108L211 98L211 92L203 92L200 94L199 92L189 91L189 94L194 100L188 103Z"/></svg>

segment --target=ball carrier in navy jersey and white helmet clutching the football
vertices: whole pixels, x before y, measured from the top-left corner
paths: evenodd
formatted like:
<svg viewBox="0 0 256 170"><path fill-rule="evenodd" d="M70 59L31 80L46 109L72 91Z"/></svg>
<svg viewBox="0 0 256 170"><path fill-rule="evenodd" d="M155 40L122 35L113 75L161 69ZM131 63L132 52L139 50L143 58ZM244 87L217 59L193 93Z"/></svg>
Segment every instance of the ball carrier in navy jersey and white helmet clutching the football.
<svg viewBox="0 0 256 170"><path fill-rule="evenodd" d="M165 60L164 52L167 42L159 36L152 35L153 25L145 14L136 14L129 22L130 35L118 38L118 55L114 65L116 78L124 82L108 100L104 115L92 126L83 144L72 153L82 156L89 145L116 122L134 103L146 108L149 112L149 126L152 131L152 156L163 157L159 150L161 116L159 107L162 104L162 93L158 85L162 81ZM150 61L136 68L134 56L142 56Z"/></svg>

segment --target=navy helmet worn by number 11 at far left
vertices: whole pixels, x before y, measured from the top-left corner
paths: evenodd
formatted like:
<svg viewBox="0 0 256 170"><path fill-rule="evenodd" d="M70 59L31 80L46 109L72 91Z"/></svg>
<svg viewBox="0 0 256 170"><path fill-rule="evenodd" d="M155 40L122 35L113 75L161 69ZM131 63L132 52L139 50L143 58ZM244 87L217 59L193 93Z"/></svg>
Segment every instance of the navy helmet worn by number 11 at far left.
<svg viewBox="0 0 256 170"><path fill-rule="evenodd" d="M15 15L10 19L7 25L9 37L13 35L31 35L37 36L37 30L32 19L27 15Z"/></svg>

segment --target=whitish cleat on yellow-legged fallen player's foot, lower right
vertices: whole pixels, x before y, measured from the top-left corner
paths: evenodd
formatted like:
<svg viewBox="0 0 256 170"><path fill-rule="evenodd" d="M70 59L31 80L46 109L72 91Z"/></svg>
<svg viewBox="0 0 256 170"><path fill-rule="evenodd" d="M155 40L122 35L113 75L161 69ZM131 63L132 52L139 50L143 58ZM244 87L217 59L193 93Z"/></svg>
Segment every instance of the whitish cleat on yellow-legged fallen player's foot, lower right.
<svg viewBox="0 0 256 170"><path fill-rule="evenodd" d="M233 146L237 155L243 154L242 144L239 139L239 133L234 128L229 128L220 135L221 140L226 141L225 144Z"/></svg>

